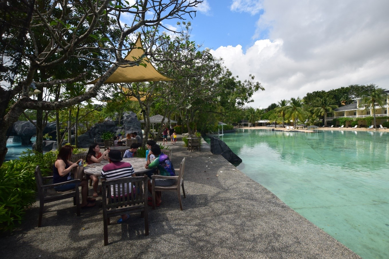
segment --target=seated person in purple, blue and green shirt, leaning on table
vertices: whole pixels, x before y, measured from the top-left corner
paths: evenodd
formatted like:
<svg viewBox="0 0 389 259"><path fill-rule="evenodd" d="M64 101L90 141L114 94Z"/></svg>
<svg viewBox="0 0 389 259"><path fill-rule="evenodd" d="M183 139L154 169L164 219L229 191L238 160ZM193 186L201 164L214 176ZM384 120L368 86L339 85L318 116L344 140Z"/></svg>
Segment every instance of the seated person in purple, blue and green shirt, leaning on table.
<svg viewBox="0 0 389 259"><path fill-rule="evenodd" d="M150 161L151 154L157 157L153 162ZM159 145L157 144L151 146L151 151L149 152L149 155L147 155L147 163L145 165L145 168L158 168L159 174L161 176L175 176L175 170L172 161L169 160L169 157L167 155L161 153L161 148L159 148ZM147 183L150 193L152 193L151 181L153 180L151 179ZM175 179L154 179L154 181L156 186L171 186L175 182ZM149 200L148 204L152 206L151 200ZM160 191L155 192L155 204L157 207L161 205Z"/></svg>

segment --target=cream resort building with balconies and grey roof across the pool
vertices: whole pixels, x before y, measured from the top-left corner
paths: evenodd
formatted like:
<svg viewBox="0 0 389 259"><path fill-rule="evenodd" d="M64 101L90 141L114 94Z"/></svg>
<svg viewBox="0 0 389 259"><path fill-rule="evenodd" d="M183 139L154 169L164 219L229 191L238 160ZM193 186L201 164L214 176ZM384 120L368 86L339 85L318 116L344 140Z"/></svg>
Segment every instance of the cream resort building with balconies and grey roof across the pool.
<svg viewBox="0 0 389 259"><path fill-rule="evenodd" d="M389 94L389 91L385 91L385 94ZM342 107L335 109L335 114L329 113L328 115L331 115L331 117L326 118L327 123L329 121L332 121L335 118L344 118L344 117L347 117L347 118L366 118L366 117L373 116L373 107L366 110L365 105L360 106L361 99L362 98L353 99L353 100L355 100L353 103L350 103L350 104L347 104L345 106L342 106ZM386 104L383 107L380 107L377 105L374 107L374 109L375 109L375 117L376 117L376 123L377 123L377 125L375 125L375 126L377 128L377 126L379 127L379 125L382 124L383 122L388 121L387 119L380 119L380 117L388 116L388 114L389 114L389 96L387 96ZM351 124L351 122L346 122L345 126L349 127L350 124ZM366 127L366 126L368 126L368 125L366 125L366 121L358 120L358 127Z"/></svg>

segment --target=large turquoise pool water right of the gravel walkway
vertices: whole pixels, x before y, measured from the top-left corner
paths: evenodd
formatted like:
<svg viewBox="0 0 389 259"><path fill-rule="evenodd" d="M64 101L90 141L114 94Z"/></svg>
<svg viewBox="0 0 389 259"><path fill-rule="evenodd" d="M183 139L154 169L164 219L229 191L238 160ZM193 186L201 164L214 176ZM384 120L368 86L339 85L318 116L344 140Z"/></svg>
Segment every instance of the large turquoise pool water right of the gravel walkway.
<svg viewBox="0 0 389 259"><path fill-rule="evenodd" d="M359 256L389 258L389 133L238 130L238 169Z"/></svg>

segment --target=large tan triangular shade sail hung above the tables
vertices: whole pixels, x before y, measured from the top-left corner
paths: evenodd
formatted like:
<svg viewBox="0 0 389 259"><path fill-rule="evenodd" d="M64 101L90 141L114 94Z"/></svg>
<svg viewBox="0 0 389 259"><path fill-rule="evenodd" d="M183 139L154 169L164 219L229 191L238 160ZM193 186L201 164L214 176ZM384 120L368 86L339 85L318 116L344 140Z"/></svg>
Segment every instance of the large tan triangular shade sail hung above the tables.
<svg viewBox="0 0 389 259"><path fill-rule="evenodd" d="M136 60L144 54L144 49L142 47L142 41L140 36L135 43L135 49L130 50L125 60ZM135 58L135 59L134 59ZM153 81L169 81L173 80L164 75L161 75L150 63L147 57L144 57L144 63L147 64L144 66L131 66L131 67L119 67L117 70L107 79L104 83L133 83L133 82L153 82ZM99 78L100 79L100 78ZM88 83L94 84L98 79Z"/></svg>

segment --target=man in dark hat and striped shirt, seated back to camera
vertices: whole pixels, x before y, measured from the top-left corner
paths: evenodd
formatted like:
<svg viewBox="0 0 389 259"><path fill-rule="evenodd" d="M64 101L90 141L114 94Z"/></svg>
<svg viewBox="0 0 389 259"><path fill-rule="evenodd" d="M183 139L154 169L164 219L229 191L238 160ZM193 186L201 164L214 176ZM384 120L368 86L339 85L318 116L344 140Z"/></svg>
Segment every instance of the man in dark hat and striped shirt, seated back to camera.
<svg viewBox="0 0 389 259"><path fill-rule="evenodd" d="M130 177L135 176L134 169L132 168L132 165L128 162L120 162L123 160L121 157L121 153L117 149L111 149L108 153L108 161L109 164L104 165L103 169L101 171L101 180L114 180L119 179L123 177ZM127 188L125 185L124 188ZM111 185L111 194L114 193L113 186ZM116 186L117 189L117 186ZM125 193L127 192L127 189L124 190ZM131 190L130 190L131 193ZM111 197L115 198L115 197ZM117 198L117 197L116 197ZM117 221L118 224L123 223L127 219L130 218L129 214L124 214L121 216L121 218Z"/></svg>

